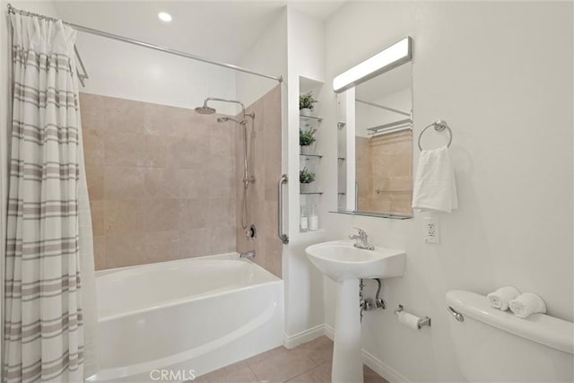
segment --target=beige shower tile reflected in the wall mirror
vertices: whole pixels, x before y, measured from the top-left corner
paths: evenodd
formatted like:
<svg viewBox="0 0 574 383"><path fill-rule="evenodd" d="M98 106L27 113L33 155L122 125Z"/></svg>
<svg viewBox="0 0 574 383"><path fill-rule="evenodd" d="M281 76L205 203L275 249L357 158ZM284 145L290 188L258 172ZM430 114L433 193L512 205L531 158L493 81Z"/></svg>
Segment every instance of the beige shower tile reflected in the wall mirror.
<svg viewBox="0 0 574 383"><path fill-rule="evenodd" d="M359 210L413 213L413 133L357 137L356 148Z"/></svg>

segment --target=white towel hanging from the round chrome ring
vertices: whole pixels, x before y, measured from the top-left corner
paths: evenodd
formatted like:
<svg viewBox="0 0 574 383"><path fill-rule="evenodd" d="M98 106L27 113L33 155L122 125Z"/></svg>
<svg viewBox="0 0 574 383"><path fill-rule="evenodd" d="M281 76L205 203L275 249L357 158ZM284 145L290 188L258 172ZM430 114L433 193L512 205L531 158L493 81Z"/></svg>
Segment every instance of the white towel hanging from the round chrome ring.
<svg viewBox="0 0 574 383"><path fill-rule="evenodd" d="M413 209L450 213L458 207L455 170L448 147L422 151L413 187Z"/></svg>

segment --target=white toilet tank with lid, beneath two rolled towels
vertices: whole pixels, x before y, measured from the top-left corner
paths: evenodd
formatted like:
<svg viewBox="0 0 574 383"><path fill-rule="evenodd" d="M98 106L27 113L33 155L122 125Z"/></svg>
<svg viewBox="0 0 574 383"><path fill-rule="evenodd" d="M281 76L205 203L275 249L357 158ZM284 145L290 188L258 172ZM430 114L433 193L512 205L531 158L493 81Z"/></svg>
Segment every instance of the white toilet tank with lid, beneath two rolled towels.
<svg viewBox="0 0 574 383"><path fill-rule="evenodd" d="M573 323L544 314L517 318L491 308L485 296L474 292L450 291L446 300L464 318L448 316L458 364L468 381L574 381Z"/></svg>

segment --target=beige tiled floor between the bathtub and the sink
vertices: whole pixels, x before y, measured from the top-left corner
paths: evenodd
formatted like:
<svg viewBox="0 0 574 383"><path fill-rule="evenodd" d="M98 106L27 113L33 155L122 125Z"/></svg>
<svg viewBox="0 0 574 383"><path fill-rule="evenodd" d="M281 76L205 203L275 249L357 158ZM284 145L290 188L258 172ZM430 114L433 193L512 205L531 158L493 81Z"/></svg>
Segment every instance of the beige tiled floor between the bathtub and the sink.
<svg viewBox="0 0 574 383"><path fill-rule="evenodd" d="M326 383L331 381L333 342L321 336L292 350L277 347L194 380L194 383ZM365 383L388 383L363 366Z"/></svg>

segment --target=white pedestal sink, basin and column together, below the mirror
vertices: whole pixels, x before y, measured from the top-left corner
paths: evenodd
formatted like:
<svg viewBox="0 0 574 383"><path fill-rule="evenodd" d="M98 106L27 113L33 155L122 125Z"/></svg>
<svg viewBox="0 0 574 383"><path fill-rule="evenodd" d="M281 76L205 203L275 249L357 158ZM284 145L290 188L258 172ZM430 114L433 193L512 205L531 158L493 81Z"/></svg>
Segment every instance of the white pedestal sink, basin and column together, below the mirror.
<svg viewBox="0 0 574 383"><path fill-rule="evenodd" d="M355 248L352 241L335 240L305 249L317 268L337 283L333 382L362 382L359 280L404 274L404 251Z"/></svg>

